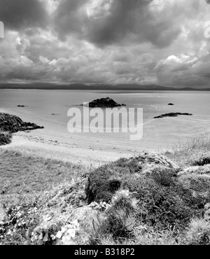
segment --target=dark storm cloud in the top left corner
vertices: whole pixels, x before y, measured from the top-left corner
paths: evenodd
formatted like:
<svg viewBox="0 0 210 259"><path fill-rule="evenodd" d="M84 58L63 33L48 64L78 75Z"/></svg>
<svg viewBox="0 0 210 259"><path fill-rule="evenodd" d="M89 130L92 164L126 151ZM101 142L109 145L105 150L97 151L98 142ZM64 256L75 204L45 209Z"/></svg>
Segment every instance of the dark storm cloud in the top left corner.
<svg viewBox="0 0 210 259"><path fill-rule="evenodd" d="M45 27L47 13L38 0L0 0L0 20L6 29Z"/></svg>

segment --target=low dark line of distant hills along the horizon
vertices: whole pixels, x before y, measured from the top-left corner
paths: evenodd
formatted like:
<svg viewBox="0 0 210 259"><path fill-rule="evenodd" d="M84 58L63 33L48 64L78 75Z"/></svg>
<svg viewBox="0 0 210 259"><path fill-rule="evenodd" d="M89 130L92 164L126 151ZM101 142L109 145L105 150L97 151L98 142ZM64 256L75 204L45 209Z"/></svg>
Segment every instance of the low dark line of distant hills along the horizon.
<svg viewBox="0 0 210 259"><path fill-rule="evenodd" d="M18 84L18 83L1 83L0 89L40 89L40 90L159 90L159 91L210 91L210 88L193 88L193 87L166 87L161 85L138 85L138 84L119 84L119 85L106 85L106 84L92 84L85 85L82 83L74 83L71 85L56 85L53 83L31 83L31 84Z"/></svg>

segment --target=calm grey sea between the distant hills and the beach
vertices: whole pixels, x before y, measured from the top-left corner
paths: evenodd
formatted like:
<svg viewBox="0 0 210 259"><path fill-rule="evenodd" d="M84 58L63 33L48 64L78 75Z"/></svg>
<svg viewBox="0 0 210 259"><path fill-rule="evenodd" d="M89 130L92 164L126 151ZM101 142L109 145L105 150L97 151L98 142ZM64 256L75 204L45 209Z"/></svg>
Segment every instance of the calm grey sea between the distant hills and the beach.
<svg viewBox="0 0 210 259"><path fill-rule="evenodd" d="M70 140L73 133L70 134L67 128L69 109L80 109L82 114L83 106L78 105L106 97L126 104L127 111L142 109L143 137L132 141L129 130L127 133L105 132L105 120L104 133L77 132L76 136L94 141L116 141L127 146L167 148L178 141L187 141L195 134L210 133L210 92L203 91L0 90L0 111L44 126L45 133L49 132L54 139ZM193 116L154 119L165 113L192 113ZM133 120L137 126L137 116Z"/></svg>

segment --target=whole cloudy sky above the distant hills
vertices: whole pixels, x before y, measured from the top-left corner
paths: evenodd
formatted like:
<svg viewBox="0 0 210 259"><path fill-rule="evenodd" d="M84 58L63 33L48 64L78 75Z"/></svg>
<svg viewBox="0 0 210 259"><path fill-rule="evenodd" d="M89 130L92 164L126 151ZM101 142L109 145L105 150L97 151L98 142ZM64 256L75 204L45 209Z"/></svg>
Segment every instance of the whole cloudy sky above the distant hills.
<svg viewBox="0 0 210 259"><path fill-rule="evenodd" d="M0 0L0 83L210 87L207 2Z"/></svg>

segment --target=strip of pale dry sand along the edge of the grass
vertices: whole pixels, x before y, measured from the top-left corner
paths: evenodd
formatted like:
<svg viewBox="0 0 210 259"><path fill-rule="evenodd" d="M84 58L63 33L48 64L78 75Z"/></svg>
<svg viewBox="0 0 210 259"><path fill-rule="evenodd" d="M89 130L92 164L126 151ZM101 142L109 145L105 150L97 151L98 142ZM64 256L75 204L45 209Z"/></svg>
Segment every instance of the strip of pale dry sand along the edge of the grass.
<svg viewBox="0 0 210 259"><path fill-rule="evenodd" d="M94 167L118 160L119 158L130 158L137 151L123 151L120 148L110 148L109 146L90 146L89 143L68 144L38 137L37 132L13 134L11 144L1 146L5 150L13 150L24 155L42 157L45 159L62 160L73 162L73 164L92 165Z"/></svg>

